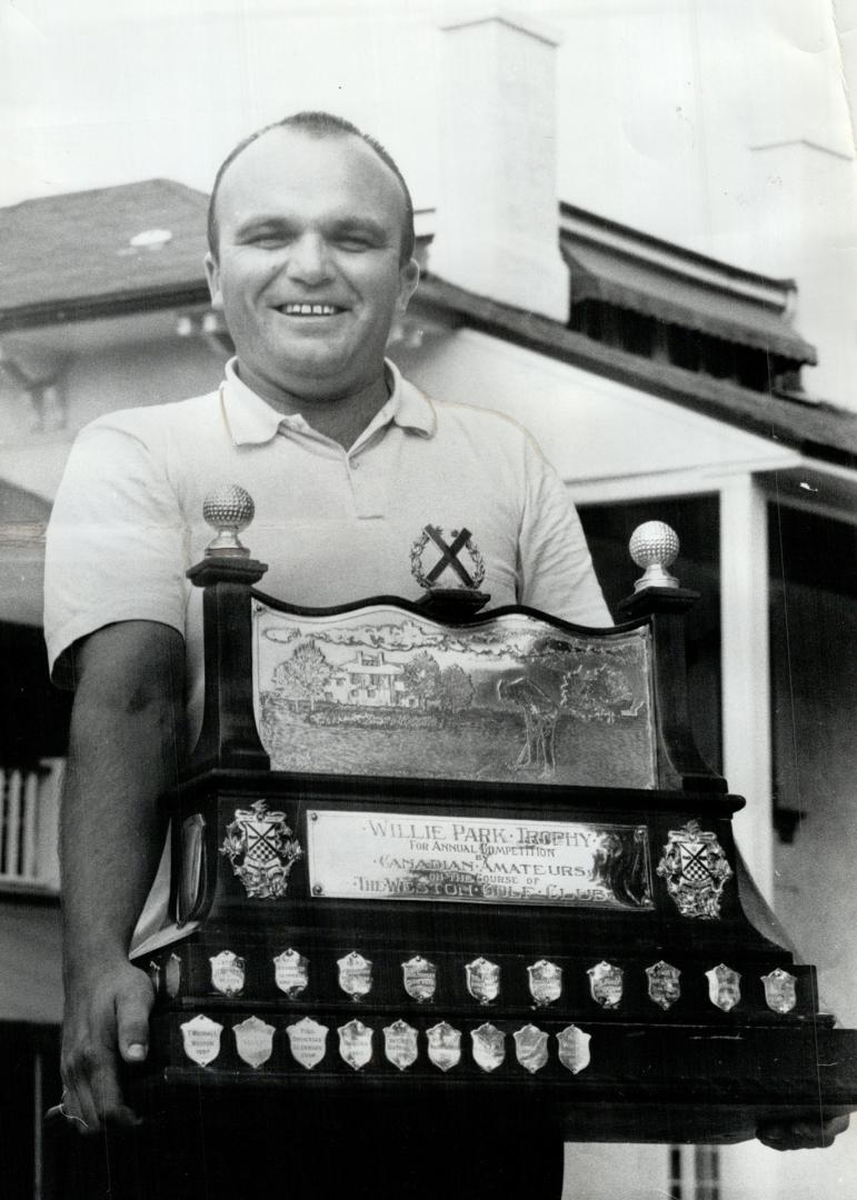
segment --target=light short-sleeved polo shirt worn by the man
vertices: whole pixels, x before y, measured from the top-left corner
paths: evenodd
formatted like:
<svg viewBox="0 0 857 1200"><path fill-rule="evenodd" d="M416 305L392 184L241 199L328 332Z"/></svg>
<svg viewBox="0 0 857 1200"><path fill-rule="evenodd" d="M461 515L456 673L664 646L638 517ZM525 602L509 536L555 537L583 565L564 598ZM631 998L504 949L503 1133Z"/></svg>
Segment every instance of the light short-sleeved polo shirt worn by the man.
<svg viewBox="0 0 857 1200"><path fill-rule="evenodd" d="M48 530L44 631L52 672L65 652L121 620L155 620L185 638L190 744L202 715L202 589L185 572L212 530L205 497L226 484L252 496L241 535L269 564L259 588L328 606L424 594L432 526L469 530L466 569L484 563L489 607L523 604L581 625L612 624L577 514L532 437L515 421L430 400L388 364L386 404L349 450L283 416L233 362L218 391L98 418L79 434ZM451 569L433 582L457 582ZM149 923L149 928L151 924Z"/></svg>

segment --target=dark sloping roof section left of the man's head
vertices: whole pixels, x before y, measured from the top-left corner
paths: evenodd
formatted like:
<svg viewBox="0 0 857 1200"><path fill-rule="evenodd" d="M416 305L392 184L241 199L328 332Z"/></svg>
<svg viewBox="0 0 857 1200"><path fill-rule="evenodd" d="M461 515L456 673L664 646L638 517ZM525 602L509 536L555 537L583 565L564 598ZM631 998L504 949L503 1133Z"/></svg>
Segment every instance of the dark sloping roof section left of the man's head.
<svg viewBox="0 0 857 1200"><path fill-rule="evenodd" d="M167 179L0 210L0 330L204 302L206 210Z"/></svg>

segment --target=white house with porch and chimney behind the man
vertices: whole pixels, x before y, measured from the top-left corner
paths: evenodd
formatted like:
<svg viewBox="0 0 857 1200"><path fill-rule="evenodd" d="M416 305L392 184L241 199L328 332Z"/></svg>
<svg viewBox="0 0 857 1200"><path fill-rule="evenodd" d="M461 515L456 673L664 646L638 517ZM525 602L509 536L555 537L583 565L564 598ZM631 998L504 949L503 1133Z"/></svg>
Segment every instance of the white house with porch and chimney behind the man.
<svg viewBox="0 0 857 1200"><path fill-rule="evenodd" d="M613 607L635 575L634 527L677 528L677 571L702 593L689 618L697 742L747 796L744 854L819 965L826 1002L855 1025L857 416L804 390L816 352L793 282L557 203L555 54L527 19L445 31L442 186L418 214L425 278L391 355L426 391L529 426L581 509ZM30 1103L8 1117L34 1163L61 1007L54 830L68 709L40 641L44 522L86 421L217 386L230 346L202 272L205 206L202 192L149 180L0 210L0 1021L7 1055L28 1031L37 1051ZM763 1200L786 1178L793 1200L852 1200L849 1139L787 1159L575 1147L569 1162L600 1181L592 1200L617 1187L634 1200L682 1188Z"/></svg>

